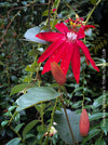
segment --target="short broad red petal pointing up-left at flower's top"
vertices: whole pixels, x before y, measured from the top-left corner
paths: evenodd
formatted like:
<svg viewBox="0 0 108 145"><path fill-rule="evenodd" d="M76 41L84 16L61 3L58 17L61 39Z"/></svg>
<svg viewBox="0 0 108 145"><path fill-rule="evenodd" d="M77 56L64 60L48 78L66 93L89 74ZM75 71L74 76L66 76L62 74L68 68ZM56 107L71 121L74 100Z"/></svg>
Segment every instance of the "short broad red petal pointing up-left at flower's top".
<svg viewBox="0 0 108 145"><path fill-rule="evenodd" d="M57 28L60 32L63 32L64 35L66 32L69 32L70 30L68 29L68 27L64 24L64 23L58 23L55 25L55 28Z"/></svg>

